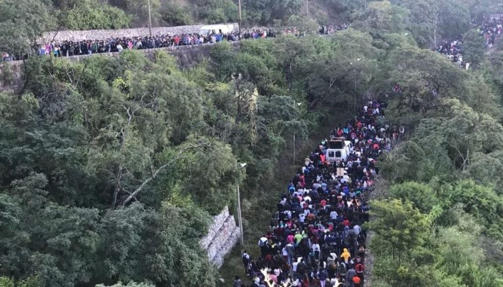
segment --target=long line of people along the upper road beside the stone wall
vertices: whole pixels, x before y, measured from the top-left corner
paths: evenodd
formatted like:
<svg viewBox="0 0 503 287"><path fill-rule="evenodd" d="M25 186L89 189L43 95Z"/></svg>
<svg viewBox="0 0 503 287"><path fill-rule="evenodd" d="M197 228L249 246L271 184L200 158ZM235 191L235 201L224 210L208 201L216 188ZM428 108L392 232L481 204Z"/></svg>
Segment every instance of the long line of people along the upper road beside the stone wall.
<svg viewBox="0 0 503 287"><path fill-rule="evenodd" d="M322 34L332 34L338 30L346 29L348 26L329 25L323 26L320 29ZM297 28L287 28L281 31L285 35L304 36L305 32ZM163 47L179 47L187 45L200 45L207 43L218 43L222 41L239 41L242 39L259 39L259 38L275 38L276 32L272 29L252 29L242 33L212 33L208 35L200 35L197 33L181 34L181 35L156 35L156 36L138 36L138 37L122 37L111 39L96 39L82 41L64 41L57 43L55 41L47 42L46 44L38 45L35 53L37 55L53 55L54 57L67 57L87 54L120 52L125 49L153 49ZM26 55L10 55L3 52L0 61L13 61L26 58Z"/></svg>

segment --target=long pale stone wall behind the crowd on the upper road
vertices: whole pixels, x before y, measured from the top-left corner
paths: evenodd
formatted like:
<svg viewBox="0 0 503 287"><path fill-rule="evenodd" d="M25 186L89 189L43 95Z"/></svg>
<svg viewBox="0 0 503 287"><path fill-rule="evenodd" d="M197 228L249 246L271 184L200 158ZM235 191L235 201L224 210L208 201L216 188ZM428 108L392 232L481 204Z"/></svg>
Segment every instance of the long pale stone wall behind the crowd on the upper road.
<svg viewBox="0 0 503 287"><path fill-rule="evenodd" d="M230 23L234 30L237 30L237 23ZM187 33L197 33L204 25L187 25L176 27L152 27L152 35L177 35ZM122 38L122 37L138 37L148 36L148 28L134 28L134 29L117 29L117 30L87 30L87 31L53 31L47 32L40 39L41 43L47 43L54 39L60 43L68 41L80 40L104 40L109 38Z"/></svg>

